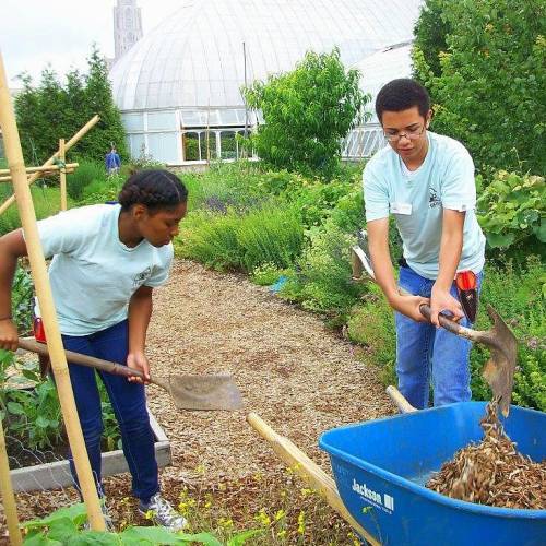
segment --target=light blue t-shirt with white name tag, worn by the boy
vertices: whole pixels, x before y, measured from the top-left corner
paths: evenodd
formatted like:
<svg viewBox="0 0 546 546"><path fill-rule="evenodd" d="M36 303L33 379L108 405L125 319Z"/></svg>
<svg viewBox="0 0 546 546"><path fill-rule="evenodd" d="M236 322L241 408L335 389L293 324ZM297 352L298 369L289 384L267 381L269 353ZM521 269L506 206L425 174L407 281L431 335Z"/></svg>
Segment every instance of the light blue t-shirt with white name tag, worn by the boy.
<svg viewBox="0 0 546 546"><path fill-rule="evenodd" d="M376 153L363 174L366 219L393 214L407 264L426 278L437 278L443 209L465 211L463 249L458 271L479 273L485 237L474 212L474 163L456 140L427 132L423 165L408 171L390 146Z"/></svg>

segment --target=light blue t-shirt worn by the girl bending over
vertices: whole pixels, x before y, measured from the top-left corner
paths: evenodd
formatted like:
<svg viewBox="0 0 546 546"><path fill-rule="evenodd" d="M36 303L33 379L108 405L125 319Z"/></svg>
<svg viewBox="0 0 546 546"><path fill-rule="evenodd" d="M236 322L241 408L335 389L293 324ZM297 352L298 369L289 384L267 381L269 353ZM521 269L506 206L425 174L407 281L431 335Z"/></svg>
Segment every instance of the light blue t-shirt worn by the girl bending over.
<svg viewBox="0 0 546 546"><path fill-rule="evenodd" d="M90 335L127 319L129 299L142 285L168 277L173 245L147 240L129 248L119 240L121 206L92 205L38 222L60 331ZM39 313L39 310L38 310Z"/></svg>

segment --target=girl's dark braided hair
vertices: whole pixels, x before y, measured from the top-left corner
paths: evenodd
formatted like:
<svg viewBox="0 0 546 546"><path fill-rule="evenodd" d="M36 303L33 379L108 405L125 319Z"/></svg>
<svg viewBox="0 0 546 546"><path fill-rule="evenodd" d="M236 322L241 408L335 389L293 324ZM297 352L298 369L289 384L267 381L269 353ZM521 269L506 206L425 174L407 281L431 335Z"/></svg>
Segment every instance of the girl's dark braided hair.
<svg viewBox="0 0 546 546"><path fill-rule="evenodd" d="M168 170L140 170L131 175L119 192L122 211L134 204L146 205L151 212L176 209L188 201L188 190L180 179Z"/></svg>

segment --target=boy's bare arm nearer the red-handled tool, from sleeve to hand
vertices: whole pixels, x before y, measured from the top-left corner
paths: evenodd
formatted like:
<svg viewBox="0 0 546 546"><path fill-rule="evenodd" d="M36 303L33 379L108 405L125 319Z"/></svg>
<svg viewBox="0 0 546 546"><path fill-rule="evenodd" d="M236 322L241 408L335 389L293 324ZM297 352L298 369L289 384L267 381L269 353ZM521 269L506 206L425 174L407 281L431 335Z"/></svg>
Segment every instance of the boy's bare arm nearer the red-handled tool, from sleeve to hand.
<svg viewBox="0 0 546 546"><path fill-rule="evenodd" d="M450 311L454 320L464 317L461 304L450 294L463 249L465 212L443 210L439 273L430 295L430 320L439 327L438 314Z"/></svg>

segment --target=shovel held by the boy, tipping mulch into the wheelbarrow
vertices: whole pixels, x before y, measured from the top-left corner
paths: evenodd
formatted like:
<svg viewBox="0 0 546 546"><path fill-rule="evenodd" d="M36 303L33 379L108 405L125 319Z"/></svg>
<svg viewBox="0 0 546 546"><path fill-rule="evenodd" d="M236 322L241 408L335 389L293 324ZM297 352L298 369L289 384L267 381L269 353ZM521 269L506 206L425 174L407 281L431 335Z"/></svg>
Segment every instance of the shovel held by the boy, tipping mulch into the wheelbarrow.
<svg viewBox="0 0 546 546"><path fill-rule="evenodd" d="M363 274L366 272L368 277L376 282L371 260L368 258L366 235L366 232L360 232L358 236L358 246L353 247L353 280L361 281ZM410 295L403 288L400 293L406 296ZM430 322L430 307L422 305L419 310L423 317ZM491 357L485 364L482 375L491 388L494 396L498 400L502 415L507 417L510 411L510 400L512 397L518 340L500 314L489 305L487 306L487 314L489 314L492 321L492 328L484 331L462 327L443 314L439 316L439 321L440 325L449 332L489 347Z"/></svg>

